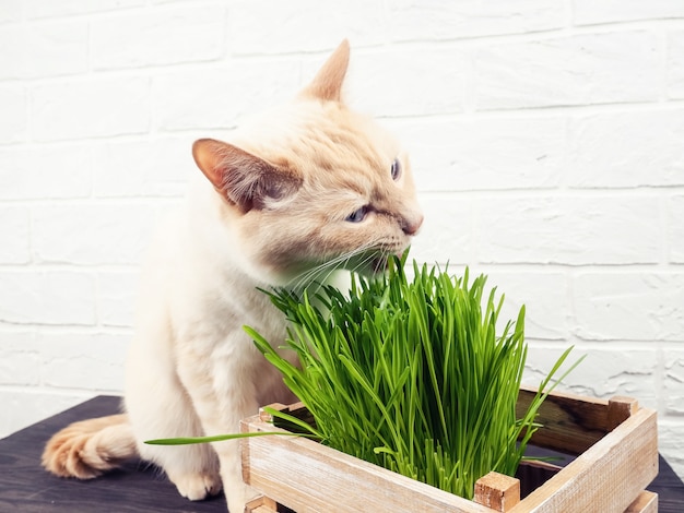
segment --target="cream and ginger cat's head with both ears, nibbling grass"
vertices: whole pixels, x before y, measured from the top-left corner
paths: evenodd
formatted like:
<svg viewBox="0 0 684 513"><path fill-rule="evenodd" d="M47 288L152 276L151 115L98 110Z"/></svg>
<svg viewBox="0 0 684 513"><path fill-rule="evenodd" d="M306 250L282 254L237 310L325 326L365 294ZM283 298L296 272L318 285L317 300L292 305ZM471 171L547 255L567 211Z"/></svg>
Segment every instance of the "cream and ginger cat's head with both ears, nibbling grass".
<svg viewBox="0 0 684 513"><path fill-rule="evenodd" d="M343 41L288 105L232 143L194 143L226 224L261 279L284 284L323 264L373 271L423 223L399 143L342 102Z"/></svg>

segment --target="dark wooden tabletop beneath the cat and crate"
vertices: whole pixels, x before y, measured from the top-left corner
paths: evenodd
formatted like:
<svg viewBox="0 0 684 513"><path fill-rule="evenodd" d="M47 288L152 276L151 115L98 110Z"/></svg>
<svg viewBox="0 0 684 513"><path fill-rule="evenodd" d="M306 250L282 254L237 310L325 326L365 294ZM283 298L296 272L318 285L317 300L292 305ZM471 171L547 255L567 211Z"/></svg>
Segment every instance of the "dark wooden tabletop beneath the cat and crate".
<svg viewBox="0 0 684 513"><path fill-rule="evenodd" d="M40 467L43 446L56 431L75 420L117 413L119 401L95 397L0 440L0 513L225 512L223 496L190 502L142 463L89 481L61 479ZM661 513L684 512L684 484L662 457L648 489L659 494Z"/></svg>

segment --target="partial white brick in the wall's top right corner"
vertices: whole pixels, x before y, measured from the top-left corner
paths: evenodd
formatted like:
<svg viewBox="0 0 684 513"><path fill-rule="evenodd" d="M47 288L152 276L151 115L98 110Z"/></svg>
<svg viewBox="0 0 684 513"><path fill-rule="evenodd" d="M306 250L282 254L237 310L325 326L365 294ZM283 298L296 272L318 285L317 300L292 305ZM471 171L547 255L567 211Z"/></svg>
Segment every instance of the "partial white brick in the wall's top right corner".
<svg viewBox="0 0 684 513"><path fill-rule="evenodd" d="M577 25L684 17L684 4L679 0L574 0Z"/></svg>

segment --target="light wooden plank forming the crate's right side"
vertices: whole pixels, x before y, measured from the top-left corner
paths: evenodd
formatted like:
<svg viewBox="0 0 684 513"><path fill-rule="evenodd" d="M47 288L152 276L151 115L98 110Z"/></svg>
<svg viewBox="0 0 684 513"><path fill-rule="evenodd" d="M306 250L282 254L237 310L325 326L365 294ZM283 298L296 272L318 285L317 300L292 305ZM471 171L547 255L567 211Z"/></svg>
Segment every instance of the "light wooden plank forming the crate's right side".
<svg viewBox="0 0 684 513"><path fill-rule="evenodd" d="M622 513L658 474L656 411L642 408L511 513Z"/></svg>

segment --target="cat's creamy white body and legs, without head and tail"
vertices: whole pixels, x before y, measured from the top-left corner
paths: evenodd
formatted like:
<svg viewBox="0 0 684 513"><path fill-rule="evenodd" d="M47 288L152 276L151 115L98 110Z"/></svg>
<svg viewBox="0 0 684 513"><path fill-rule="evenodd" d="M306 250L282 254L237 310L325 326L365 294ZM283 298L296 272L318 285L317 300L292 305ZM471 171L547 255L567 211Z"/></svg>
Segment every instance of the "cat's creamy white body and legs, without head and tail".
<svg viewBox="0 0 684 513"><path fill-rule="evenodd" d="M228 506L241 511L246 491L237 442L215 443L215 453L208 445L143 444L237 432L239 420L259 406L293 401L243 330L248 324L280 341L283 315L257 290L268 284L252 277L225 222L229 212L200 180L154 241L143 270L126 409L141 456L164 468L181 494L196 500L217 492L220 462Z"/></svg>

